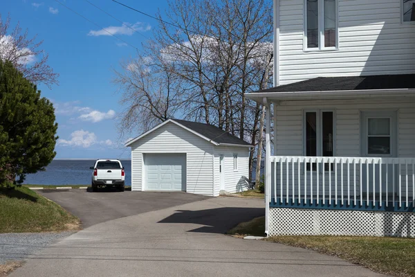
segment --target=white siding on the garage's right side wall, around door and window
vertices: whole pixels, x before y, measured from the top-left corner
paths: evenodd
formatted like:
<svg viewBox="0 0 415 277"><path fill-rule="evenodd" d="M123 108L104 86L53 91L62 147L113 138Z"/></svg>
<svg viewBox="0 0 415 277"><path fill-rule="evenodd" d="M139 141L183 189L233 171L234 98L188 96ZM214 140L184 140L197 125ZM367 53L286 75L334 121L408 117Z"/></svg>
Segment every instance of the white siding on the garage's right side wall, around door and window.
<svg viewBox="0 0 415 277"><path fill-rule="evenodd" d="M220 175L219 175L219 155L223 154L223 174L225 179L224 190L228 193L237 193L241 188L241 177L249 177L249 149L246 147L215 147L215 165L216 166L216 190L219 193L220 189ZM238 155L238 170L234 170L234 154Z"/></svg>

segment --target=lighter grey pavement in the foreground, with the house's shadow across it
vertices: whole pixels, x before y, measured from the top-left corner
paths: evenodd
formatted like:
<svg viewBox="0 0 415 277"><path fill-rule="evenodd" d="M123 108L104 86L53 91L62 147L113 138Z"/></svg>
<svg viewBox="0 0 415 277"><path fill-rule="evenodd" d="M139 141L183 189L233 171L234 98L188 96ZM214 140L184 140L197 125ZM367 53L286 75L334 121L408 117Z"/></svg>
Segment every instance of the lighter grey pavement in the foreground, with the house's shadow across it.
<svg viewBox="0 0 415 277"><path fill-rule="evenodd" d="M382 276L306 249L222 234L263 207L259 199L219 197L103 222L10 276Z"/></svg>

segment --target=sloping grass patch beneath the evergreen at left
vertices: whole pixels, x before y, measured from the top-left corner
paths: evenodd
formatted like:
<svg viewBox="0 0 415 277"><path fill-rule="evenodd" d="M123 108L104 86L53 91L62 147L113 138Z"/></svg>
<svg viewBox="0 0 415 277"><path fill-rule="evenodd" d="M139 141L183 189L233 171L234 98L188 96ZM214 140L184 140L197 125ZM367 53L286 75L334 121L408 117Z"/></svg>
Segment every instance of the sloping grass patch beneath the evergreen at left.
<svg viewBox="0 0 415 277"><path fill-rule="evenodd" d="M24 186L0 187L0 233L75 231L80 220Z"/></svg>

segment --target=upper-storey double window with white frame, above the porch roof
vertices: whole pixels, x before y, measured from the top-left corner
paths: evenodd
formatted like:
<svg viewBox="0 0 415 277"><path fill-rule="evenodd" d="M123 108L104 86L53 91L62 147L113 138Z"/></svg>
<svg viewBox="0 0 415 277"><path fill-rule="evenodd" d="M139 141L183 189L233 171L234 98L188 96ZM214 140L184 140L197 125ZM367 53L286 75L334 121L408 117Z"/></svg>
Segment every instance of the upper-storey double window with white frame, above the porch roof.
<svg viewBox="0 0 415 277"><path fill-rule="evenodd" d="M337 0L305 0L305 7L306 50L338 48Z"/></svg>

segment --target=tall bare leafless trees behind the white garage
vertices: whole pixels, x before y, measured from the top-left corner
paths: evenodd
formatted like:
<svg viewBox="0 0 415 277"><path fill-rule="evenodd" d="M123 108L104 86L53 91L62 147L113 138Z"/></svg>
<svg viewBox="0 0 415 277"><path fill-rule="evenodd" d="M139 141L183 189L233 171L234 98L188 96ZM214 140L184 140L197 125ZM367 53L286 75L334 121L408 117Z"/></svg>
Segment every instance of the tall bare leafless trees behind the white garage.
<svg viewBox="0 0 415 277"><path fill-rule="evenodd" d="M245 93L264 87L264 80L272 73L266 71L270 63L267 57L273 47L272 8L272 3L265 0L169 2L167 18L159 16L163 20L154 29L154 39L143 45L139 56L151 60L151 72L164 72L175 81L172 89L180 97L175 98L174 110L168 107L170 116L174 111L178 116L216 125L257 145L261 108L246 99ZM125 73L124 69L121 75ZM126 89L124 84L131 83L131 77L127 74L127 79L118 79L122 89ZM148 82L145 80L146 85ZM142 91L139 87L129 87L124 98L134 98L147 109L151 103L148 97L136 94ZM158 96L167 101L165 93ZM137 102L123 103L127 109L137 105ZM132 116L138 114L126 113L123 121L135 120ZM149 114L147 120L150 117L165 120L158 114ZM142 131L152 123L142 125ZM254 160L252 151L250 169Z"/></svg>

